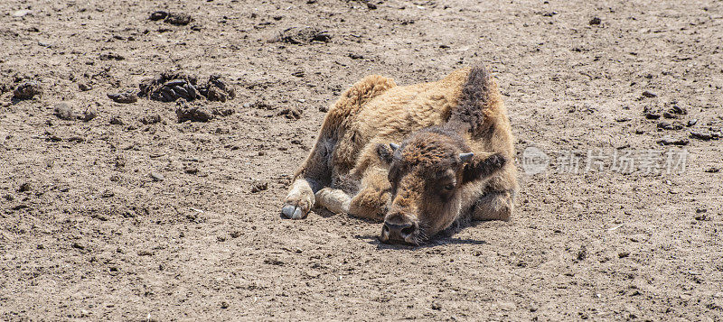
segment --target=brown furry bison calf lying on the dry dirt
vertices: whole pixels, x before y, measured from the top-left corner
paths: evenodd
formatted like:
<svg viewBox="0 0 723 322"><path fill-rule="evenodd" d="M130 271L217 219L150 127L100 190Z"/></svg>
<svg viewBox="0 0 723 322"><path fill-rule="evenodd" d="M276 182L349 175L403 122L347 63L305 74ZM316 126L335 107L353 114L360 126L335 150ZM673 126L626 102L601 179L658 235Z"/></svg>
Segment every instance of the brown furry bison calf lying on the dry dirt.
<svg viewBox="0 0 723 322"><path fill-rule="evenodd" d="M398 87L368 76L329 110L282 216L312 207L384 220L380 240L419 244L470 220L507 220L518 189L510 121L484 68Z"/></svg>

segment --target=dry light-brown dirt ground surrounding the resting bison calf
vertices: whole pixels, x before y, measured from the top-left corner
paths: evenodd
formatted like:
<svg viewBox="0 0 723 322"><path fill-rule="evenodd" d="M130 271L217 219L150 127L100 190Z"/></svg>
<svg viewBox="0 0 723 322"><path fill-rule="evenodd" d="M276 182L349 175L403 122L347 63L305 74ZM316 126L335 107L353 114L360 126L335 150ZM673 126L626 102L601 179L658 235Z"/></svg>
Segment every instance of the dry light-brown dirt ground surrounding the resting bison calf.
<svg viewBox="0 0 723 322"><path fill-rule="evenodd" d="M723 320L723 2L9 0L0 43L0 320ZM550 158L510 222L406 247L279 217L343 89L474 63L518 165ZM194 106L227 113L107 97L168 70L221 76ZM666 137L683 173L584 171Z"/></svg>

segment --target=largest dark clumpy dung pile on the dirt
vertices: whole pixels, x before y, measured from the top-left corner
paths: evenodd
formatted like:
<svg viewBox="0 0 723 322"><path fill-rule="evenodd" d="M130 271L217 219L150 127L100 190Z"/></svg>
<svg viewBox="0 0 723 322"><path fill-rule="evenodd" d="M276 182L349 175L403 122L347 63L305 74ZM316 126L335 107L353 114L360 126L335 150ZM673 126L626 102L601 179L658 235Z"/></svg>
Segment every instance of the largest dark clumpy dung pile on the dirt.
<svg viewBox="0 0 723 322"><path fill-rule="evenodd" d="M142 82L138 87L139 97L161 102L174 102L179 98L189 102L201 98L225 102L236 96L233 88L216 75L211 75L205 83L199 84L198 78L194 76L164 72L157 78Z"/></svg>

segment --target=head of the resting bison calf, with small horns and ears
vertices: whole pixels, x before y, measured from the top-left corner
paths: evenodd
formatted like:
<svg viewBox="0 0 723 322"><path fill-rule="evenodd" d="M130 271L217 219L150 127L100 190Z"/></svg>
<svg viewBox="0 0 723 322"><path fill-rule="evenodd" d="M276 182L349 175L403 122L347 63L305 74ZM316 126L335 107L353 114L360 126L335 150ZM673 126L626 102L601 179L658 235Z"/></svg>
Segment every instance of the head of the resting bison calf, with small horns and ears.
<svg viewBox="0 0 723 322"><path fill-rule="evenodd" d="M455 132L432 127L412 133L401 144L377 145L390 165L391 204L380 241L420 244L459 216L465 185L504 166L499 153L474 155Z"/></svg>

